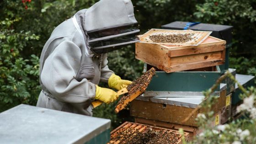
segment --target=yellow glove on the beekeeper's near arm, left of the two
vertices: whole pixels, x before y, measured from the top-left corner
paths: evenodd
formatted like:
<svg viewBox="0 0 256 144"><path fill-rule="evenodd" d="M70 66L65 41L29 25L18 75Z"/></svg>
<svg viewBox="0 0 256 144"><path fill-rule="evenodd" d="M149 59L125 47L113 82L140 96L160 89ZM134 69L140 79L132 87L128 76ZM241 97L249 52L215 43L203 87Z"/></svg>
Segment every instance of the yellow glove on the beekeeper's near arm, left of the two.
<svg viewBox="0 0 256 144"><path fill-rule="evenodd" d="M115 91L107 88L102 88L96 85L96 100L100 100L102 102L109 104L110 102L116 101L118 97L119 96L117 96L117 93Z"/></svg>

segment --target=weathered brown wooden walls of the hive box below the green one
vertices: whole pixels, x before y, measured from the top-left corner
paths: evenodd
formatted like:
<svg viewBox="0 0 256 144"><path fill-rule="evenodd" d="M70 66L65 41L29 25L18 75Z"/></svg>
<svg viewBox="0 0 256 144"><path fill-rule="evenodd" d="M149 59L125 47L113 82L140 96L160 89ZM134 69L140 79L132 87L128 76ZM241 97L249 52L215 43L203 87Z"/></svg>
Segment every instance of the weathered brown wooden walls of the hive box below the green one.
<svg viewBox="0 0 256 144"><path fill-rule="evenodd" d="M216 104L211 108L215 113L221 112L223 107L226 106L226 89L220 91L220 96L217 98ZM198 109L193 113L187 122L181 123L187 118L195 108L181 107L175 105L169 105L151 101L134 100L130 105L130 114L133 117L143 117L152 120L158 120L169 123L178 123L182 125L197 127L196 117L198 113L205 111L204 109Z"/></svg>

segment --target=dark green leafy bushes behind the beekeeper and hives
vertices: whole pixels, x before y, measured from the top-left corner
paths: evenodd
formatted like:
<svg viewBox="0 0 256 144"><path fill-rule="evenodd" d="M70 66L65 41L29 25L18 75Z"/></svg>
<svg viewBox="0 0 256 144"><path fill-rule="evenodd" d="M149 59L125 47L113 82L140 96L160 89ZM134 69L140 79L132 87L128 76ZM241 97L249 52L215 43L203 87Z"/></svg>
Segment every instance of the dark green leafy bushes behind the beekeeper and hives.
<svg viewBox="0 0 256 144"><path fill-rule="evenodd" d="M141 34L172 21L201 21L234 26L230 68L256 75L256 0L132 0ZM39 57L51 32L80 9L97 0L0 1L0 112L21 103L36 105L41 91ZM114 3L114 0L113 0ZM134 45L109 53L109 67L123 79L141 75ZM117 127L132 120L128 108L114 113L114 104L94 110L94 116Z"/></svg>

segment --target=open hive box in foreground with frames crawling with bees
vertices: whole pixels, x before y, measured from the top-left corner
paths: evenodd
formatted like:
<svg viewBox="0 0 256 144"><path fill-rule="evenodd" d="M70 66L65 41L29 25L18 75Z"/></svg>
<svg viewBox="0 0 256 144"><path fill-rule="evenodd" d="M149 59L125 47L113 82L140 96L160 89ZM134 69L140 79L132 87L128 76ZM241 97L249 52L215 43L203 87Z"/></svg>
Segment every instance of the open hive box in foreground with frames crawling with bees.
<svg viewBox="0 0 256 144"><path fill-rule="evenodd" d="M111 132L108 144L182 144L181 136L176 130L125 122Z"/></svg>

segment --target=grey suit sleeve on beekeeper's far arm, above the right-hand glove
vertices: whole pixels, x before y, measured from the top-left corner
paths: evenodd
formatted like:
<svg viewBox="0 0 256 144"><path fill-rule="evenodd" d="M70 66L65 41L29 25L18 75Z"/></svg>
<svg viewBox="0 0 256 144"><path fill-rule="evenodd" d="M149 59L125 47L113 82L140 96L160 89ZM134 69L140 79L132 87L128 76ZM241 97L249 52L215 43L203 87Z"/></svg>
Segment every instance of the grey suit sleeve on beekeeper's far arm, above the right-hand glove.
<svg viewBox="0 0 256 144"><path fill-rule="evenodd" d="M112 70L110 70L107 66L107 53L103 54L102 56L102 63L101 63L101 81L108 82L109 77L114 74Z"/></svg>

